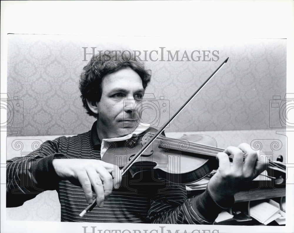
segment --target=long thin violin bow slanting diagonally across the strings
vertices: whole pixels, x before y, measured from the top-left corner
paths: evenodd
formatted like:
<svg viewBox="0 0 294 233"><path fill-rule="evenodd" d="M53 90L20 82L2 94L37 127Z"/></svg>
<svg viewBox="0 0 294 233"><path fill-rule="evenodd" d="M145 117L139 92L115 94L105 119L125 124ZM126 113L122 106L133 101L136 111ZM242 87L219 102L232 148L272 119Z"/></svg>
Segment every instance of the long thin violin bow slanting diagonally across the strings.
<svg viewBox="0 0 294 233"><path fill-rule="evenodd" d="M146 142L145 145L139 150L131 159L131 161L126 164L122 169L121 169L121 175L125 174L126 171L136 162L136 160L147 150L148 146L151 145L151 143L163 132L163 130L168 126L169 123L185 108L188 103L191 102L191 100L195 97L195 95L206 85L206 83L216 74L216 72L219 71L219 69L228 61L229 58L225 59L225 61L209 76L204 83L190 96L188 100L176 111L176 113L173 114L173 116L166 121L166 123L163 124L163 126L152 135L152 138ZM93 202L89 204L86 209L84 209L79 216L83 217L88 211L91 211L95 205L96 205L96 198L93 199Z"/></svg>

